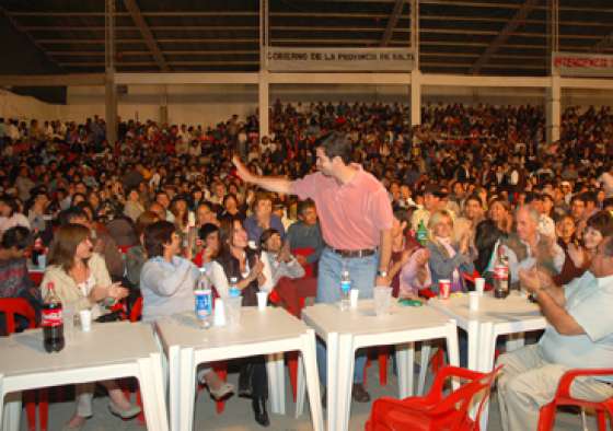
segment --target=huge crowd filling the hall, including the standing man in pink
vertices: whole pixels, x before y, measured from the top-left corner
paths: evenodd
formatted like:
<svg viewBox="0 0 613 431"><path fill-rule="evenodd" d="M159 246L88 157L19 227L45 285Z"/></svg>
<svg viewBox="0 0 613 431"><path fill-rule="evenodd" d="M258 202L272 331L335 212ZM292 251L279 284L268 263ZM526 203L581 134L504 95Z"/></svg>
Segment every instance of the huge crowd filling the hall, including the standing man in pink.
<svg viewBox="0 0 613 431"><path fill-rule="evenodd" d="M377 280L396 296L426 301L441 279L466 291L463 275L476 271L491 284L502 253L513 287L563 292L595 278L613 291L602 264L613 255L610 107L566 109L556 142L545 140L543 108L529 105L427 105L419 127L410 127L401 104L277 101L270 110L267 137L258 136L252 115L210 127L119 121L117 142L106 141L99 117L85 124L0 118L0 298L26 298L39 307L54 281L65 303L95 316L142 296L142 318L151 322L193 310L197 268L206 267L218 294L236 284L244 305L305 270L319 279L316 301L336 301L331 287L342 269L363 298ZM39 290L27 266L47 248ZM610 346L613 335L601 324L568 313L585 329L578 334L587 334L586 351L590 342L599 354L602 343ZM566 335L556 324L555 335ZM539 360L558 364L562 354L547 353L552 340L558 348L565 340L550 333ZM362 368L358 354L357 401L370 399ZM268 426L263 358L246 360L241 374L238 392L252 397L256 421ZM216 398L234 392L208 366L198 378ZM114 383L104 386L113 412L138 413ZM504 393L512 387L505 383ZM79 388L69 428L91 416L92 393ZM533 428L527 416L518 419L525 404L501 404L516 409L505 411L509 429L521 421Z"/></svg>

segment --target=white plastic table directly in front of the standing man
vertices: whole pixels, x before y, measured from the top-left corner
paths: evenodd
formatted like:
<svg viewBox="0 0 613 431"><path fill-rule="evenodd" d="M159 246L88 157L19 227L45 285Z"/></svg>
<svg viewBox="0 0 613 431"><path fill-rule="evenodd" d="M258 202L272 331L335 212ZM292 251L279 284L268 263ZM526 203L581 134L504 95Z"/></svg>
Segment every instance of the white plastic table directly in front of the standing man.
<svg viewBox="0 0 613 431"><path fill-rule="evenodd" d="M357 308L346 312L342 312L338 304L316 304L302 311L302 319L326 342L329 431L348 429L357 349L400 345L396 346L396 363L401 398L413 393L415 341L446 338L450 362L459 362L455 323L431 307L400 306L394 303L391 314L377 316L372 300L359 301ZM301 407L301 400L298 401Z"/></svg>

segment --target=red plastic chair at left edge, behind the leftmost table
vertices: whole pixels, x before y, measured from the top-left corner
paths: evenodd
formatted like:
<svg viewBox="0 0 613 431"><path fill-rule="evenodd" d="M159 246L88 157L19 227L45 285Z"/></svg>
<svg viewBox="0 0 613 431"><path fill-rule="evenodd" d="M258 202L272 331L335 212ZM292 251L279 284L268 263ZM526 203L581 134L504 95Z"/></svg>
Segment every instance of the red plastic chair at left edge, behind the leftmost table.
<svg viewBox="0 0 613 431"><path fill-rule="evenodd" d="M0 299L0 313L4 314L7 323L7 335L15 331L15 314L27 318L27 327L36 327L36 312L22 298ZM49 393L47 388L26 391L23 393L25 413L27 416L28 431L36 431L36 395L38 394L38 417L41 419L41 431L47 431L49 421Z"/></svg>

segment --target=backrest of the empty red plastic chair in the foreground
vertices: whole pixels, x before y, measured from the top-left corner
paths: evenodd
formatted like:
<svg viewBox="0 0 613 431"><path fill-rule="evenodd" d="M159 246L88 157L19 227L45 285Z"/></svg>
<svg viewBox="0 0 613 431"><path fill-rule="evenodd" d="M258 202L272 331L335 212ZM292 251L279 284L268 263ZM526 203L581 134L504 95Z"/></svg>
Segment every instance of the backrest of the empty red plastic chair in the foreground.
<svg viewBox="0 0 613 431"><path fill-rule="evenodd" d="M494 381L501 368L502 365L499 365L491 372L483 373L476 378L460 386L458 389L449 394L436 408L432 409L431 412L433 415L441 416L452 413L450 415L453 422L450 424L450 429L452 430L472 429L472 427L470 427L472 423L476 423L478 427L484 405L489 397L491 385L494 384ZM453 373L451 375L453 375ZM473 406L476 399L478 399L476 417L474 421L470 421L470 423L467 423L466 419L470 418L469 409Z"/></svg>

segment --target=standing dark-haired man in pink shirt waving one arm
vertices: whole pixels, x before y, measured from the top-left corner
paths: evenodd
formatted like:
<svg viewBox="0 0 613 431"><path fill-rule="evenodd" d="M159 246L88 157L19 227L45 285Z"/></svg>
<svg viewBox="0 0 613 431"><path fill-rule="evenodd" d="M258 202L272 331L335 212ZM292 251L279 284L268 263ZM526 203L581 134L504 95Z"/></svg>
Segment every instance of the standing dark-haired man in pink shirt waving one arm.
<svg viewBox="0 0 613 431"><path fill-rule="evenodd" d="M316 302L340 301L340 272L349 271L351 288L360 298L372 298L374 286L389 286L393 212L385 187L358 164L351 163L351 144L343 133L324 137L316 148L317 173L301 179L252 174L233 159L239 176L269 191L298 195L315 201L326 247L319 264ZM326 351L317 345L320 380L327 381ZM363 387L366 356L358 351L352 397L368 403ZM325 392L324 392L325 399Z"/></svg>

